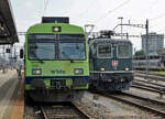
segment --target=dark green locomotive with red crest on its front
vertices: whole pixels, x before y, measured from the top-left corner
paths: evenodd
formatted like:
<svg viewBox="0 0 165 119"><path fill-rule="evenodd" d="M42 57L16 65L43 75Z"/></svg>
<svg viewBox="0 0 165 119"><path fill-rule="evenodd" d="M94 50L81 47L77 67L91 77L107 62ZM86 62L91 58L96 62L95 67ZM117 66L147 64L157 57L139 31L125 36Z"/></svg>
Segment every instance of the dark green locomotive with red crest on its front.
<svg viewBox="0 0 165 119"><path fill-rule="evenodd" d="M106 91L128 90L134 77L132 43L97 37L89 41L90 87Z"/></svg>

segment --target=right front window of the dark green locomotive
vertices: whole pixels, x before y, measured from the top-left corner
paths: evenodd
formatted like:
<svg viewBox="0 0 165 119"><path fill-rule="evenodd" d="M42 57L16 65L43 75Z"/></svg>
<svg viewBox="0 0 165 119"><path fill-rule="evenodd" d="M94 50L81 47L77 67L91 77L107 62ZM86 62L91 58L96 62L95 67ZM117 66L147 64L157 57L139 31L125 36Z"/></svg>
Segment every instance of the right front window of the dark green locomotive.
<svg viewBox="0 0 165 119"><path fill-rule="evenodd" d="M129 44L119 44L118 45L118 57L121 57L121 58L130 57L130 46L129 46Z"/></svg>

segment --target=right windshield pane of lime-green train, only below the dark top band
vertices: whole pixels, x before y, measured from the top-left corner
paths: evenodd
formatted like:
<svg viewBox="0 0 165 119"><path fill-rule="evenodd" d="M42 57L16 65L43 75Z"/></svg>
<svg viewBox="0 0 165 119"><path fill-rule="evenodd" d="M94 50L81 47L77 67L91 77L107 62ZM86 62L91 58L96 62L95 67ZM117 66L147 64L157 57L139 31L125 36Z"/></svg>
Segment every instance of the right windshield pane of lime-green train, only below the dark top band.
<svg viewBox="0 0 165 119"><path fill-rule="evenodd" d="M61 42L59 60L85 60L85 42Z"/></svg>

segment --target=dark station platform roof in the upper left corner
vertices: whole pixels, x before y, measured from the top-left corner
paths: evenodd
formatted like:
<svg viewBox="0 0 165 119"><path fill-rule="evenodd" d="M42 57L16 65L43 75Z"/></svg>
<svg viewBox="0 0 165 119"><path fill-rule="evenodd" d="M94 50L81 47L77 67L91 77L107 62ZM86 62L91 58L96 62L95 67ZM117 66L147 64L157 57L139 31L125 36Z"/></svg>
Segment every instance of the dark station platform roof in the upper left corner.
<svg viewBox="0 0 165 119"><path fill-rule="evenodd" d="M19 42L13 12L9 0L0 0L0 45Z"/></svg>

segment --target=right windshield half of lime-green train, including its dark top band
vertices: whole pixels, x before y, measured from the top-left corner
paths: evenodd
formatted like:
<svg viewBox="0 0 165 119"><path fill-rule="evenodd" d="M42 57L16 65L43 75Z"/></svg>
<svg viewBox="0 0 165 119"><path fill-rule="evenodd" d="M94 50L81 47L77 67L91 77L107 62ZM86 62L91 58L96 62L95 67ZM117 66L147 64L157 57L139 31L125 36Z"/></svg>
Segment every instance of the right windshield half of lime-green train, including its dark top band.
<svg viewBox="0 0 165 119"><path fill-rule="evenodd" d="M59 34L59 60L85 60L85 35Z"/></svg>

